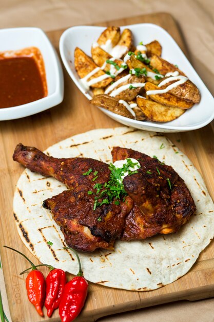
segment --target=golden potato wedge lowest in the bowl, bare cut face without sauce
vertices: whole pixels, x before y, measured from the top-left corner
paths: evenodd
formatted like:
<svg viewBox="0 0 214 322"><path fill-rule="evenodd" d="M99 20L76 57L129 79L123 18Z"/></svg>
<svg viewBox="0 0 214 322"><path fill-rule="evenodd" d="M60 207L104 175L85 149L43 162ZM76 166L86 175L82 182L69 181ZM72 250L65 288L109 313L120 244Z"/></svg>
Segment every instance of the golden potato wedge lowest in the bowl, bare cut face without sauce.
<svg viewBox="0 0 214 322"><path fill-rule="evenodd" d="M154 122L170 122L185 112L185 110L169 108L168 106L141 97L137 97L137 104L146 118Z"/></svg>

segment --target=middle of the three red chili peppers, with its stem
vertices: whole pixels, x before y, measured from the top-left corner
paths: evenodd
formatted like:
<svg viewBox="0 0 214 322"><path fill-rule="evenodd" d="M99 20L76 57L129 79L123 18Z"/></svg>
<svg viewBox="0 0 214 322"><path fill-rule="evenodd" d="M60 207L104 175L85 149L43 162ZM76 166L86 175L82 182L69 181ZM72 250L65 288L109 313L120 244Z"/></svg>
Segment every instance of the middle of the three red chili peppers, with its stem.
<svg viewBox="0 0 214 322"><path fill-rule="evenodd" d="M48 317L51 317L53 311L59 308L60 301L63 295L63 290L66 284L65 272L61 269L54 269L53 266L48 264L40 264L38 266L47 266L50 269L48 276L46 277L46 298L45 307L47 309ZM30 269L23 271L21 274L27 272Z"/></svg>

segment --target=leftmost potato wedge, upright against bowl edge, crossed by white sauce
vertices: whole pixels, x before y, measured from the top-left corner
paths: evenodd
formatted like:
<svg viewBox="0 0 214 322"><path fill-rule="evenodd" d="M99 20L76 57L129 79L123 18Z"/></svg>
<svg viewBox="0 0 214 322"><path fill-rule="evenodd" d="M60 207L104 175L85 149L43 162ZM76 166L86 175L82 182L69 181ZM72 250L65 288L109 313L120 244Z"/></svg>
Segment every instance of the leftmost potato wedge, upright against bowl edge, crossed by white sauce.
<svg viewBox="0 0 214 322"><path fill-rule="evenodd" d="M98 67L93 60L86 55L86 53L81 50L80 48L76 47L74 51L74 66L77 71L77 74L80 76L80 78L84 78L86 75L88 75L92 70L94 70L96 67ZM96 77L105 75L104 71L99 69L94 75L92 75L89 79L94 79ZM112 81L111 77L105 78L104 80L90 85L91 87L106 87L110 82Z"/></svg>

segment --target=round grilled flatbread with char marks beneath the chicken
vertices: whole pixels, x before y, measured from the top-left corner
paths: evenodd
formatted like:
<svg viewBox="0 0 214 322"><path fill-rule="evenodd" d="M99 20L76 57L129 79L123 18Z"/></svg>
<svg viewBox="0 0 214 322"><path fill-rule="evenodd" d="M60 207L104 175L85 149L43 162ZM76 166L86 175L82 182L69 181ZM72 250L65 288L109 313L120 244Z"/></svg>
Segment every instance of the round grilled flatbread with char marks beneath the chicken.
<svg viewBox="0 0 214 322"><path fill-rule="evenodd" d="M143 241L116 241L115 250L79 253L87 280L112 288L154 290L186 274L214 236L214 206L204 181L190 160L161 134L127 127L98 129L75 135L48 148L54 157L91 157L110 163L111 149L120 146L156 155L184 178L197 212L176 234L157 235ZM162 146L162 149L160 147ZM164 147L164 148L163 148ZM178 153L175 153L178 152ZM45 199L67 188L52 177L26 169L14 194L14 218L18 234L41 262L72 274L78 263L66 246L60 227ZM52 242L52 245L47 242Z"/></svg>

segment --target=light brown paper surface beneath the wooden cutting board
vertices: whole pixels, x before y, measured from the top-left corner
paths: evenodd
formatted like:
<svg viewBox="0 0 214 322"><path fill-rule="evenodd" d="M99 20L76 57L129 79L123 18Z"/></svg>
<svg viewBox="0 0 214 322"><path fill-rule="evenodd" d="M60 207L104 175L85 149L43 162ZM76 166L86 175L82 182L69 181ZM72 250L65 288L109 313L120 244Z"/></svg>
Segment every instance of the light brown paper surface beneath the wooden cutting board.
<svg viewBox="0 0 214 322"><path fill-rule="evenodd" d="M139 14L171 13L179 25L193 67L214 93L213 0L0 0L0 7L0 28L34 26L45 31ZM214 322L214 299L170 303L99 321Z"/></svg>

